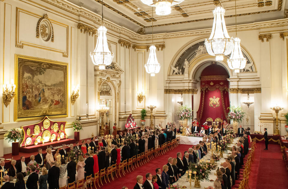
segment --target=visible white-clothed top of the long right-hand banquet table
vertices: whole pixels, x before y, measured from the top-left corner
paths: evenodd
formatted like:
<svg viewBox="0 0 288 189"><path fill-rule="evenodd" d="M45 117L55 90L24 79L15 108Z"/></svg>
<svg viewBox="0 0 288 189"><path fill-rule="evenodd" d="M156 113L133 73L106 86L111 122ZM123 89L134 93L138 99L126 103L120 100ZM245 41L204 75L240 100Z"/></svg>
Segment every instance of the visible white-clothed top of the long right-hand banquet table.
<svg viewBox="0 0 288 189"><path fill-rule="evenodd" d="M201 137L200 137L201 138ZM229 147L235 146L236 142L238 141L238 138L235 138L233 140L233 143L229 145ZM228 150L227 153L231 153L230 150ZM229 154L230 155L230 154ZM210 160L211 158L211 151L208 152L207 155L205 155L202 160L206 161L206 160ZM225 159L227 158L227 154L223 153L223 158L220 158L220 161L216 162L217 166L219 168L221 168L222 166L220 165L221 163L225 162ZM214 173L216 173L216 170L211 170L210 174L209 174L209 180L216 180L217 176L214 175ZM184 174L177 182L175 182L173 185L177 185L179 184L179 186L186 186L187 188L190 188L190 182L186 181L187 175ZM201 188L207 188L208 186L213 186L214 185L214 181L204 181L204 182L200 182ZM192 182L192 188L194 186L194 182Z"/></svg>

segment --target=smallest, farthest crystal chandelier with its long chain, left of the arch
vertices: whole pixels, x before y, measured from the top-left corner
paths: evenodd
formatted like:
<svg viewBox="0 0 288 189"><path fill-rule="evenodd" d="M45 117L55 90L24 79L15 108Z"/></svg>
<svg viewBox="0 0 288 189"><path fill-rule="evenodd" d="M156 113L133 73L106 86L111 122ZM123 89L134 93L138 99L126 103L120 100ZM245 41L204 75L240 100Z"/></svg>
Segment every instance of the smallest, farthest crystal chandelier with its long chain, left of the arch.
<svg viewBox="0 0 288 189"><path fill-rule="evenodd" d="M153 7L152 7L152 17L153 17ZM158 62L156 57L156 47L153 45L153 20L152 20L152 45L149 47L149 57L147 63L144 65L146 72L150 73L151 76L155 76L161 68L161 64Z"/></svg>

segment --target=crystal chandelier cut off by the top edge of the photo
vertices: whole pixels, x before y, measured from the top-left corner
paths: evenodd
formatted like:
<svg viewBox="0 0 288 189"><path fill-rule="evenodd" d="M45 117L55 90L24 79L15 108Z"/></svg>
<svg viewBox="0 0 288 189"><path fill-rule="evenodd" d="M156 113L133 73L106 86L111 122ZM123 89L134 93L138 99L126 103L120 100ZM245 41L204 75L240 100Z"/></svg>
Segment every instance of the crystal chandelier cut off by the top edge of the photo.
<svg viewBox="0 0 288 189"><path fill-rule="evenodd" d="M171 13L171 6L182 3L184 0L141 0L142 3L156 7L157 15L168 15ZM152 16L153 17L153 16Z"/></svg>

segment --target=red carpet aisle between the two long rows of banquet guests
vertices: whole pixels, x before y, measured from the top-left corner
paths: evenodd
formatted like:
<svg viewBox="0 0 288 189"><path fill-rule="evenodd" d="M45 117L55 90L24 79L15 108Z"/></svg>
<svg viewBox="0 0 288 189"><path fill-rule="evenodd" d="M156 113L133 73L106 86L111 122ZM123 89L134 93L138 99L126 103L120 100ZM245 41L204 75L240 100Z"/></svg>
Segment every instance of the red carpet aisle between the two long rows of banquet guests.
<svg viewBox="0 0 288 189"><path fill-rule="evenodd" d="M192 145L185 145L185 144L180 144L178 147L174 148L173 150L168 151L166 154L164 155L160 155L156 158L154 158L152 161L149 161L149 163L144 164L143 166L140 166L136 169L134 169L134 171L131 170L131 172L126 171L125 176L123 177L123 174L121 174L122 178L117 178L114 179L114 181L111 181L110 179L110 183L108 182L108 184L105 184L105 181L102 180L102 183L104 184L103 186L101 186L101 189L111 189L111 188L122 188L122 186L126 186L129 189L134 188L135 184L136 184L136 177L138 175L142 175L144 177L144 181L145 179L145 174L146 173L151 173L152 175L155 175L155 169L156 168L161 168L163 165L167 164L167 160L168 158L172 157L172 158L176 158L176 154L177 152L181 152L182 155L184 153L184 151L187 151L189 148L191 148ZM96 185L97 188L98 185Z"/></svg>

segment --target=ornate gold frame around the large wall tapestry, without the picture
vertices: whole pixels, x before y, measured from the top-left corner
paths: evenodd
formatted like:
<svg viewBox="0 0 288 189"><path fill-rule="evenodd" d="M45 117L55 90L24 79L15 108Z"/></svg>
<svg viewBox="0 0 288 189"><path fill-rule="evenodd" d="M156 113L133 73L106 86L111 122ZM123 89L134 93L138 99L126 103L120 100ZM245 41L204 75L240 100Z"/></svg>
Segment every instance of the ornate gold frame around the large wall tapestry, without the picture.
<svg viewBox="0 0 288 189"><path fill-rule="evenodd" d="M50 110L53 111L52 115L48 114L48 111L46 114L38 114L38 115L32 115L30 117L18 117L18 106L19 106L19 102L18 102L18 60L19 58L25 59L25 60L31 60L31 61L41 61L41 62L45 62L45 63L50 63L50 64L54 64L54 65L60 65L60 66L64 66L63 67L63 73L64 73L64 97L66 99L64 99L64 101L66 102L66 105L63 106L62 109L55 109L55 110ZM30 121L30 120L39 120L39 119L43 119L45 116L49 116L50 118L60 118L60 117L68 117L68 63L65 62L59 62L59 61L52 61L49 59L44 59L44 58L36 58L36 57L31 57L31 56L25 56L25 55L18 55L15 54L15 84L16 84L16 88L15 88L15 99L14 99L14 121ZM22 93L21 93L22 95ZM64 113L62 113L64 112Z"/></svg>

